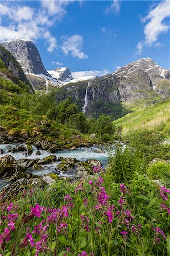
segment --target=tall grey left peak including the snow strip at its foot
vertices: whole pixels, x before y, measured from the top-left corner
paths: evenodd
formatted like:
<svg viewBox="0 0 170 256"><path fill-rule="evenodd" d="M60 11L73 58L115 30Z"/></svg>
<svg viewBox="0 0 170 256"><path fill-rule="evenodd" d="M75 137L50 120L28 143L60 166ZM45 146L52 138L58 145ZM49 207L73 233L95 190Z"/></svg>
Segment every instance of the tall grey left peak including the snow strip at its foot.
<svg viewBox="0 0 170 256"><path fill-rule="evenodd" d="M1 42L22 66L32 86L41 89L45 86L58 86L60 82L53 79L44 68L39 51L31 40L11 40Z"/></svg>

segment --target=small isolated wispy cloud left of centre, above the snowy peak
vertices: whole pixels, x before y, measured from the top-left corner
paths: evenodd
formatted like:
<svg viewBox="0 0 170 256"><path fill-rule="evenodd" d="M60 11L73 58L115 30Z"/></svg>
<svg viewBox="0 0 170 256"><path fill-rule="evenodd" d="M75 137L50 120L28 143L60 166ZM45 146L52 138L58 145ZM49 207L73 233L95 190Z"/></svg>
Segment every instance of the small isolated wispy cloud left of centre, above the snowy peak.
<svg viewBox="0 0 170 256"><path fill-rule="evenodd" d="M65 55L71 52L73 57L78 57L79 59L87 59L86 55L81 49L83 46L83 38L80 35L73 35L69 38L63 36L63 46L61 46L62 51Z"/></svg>

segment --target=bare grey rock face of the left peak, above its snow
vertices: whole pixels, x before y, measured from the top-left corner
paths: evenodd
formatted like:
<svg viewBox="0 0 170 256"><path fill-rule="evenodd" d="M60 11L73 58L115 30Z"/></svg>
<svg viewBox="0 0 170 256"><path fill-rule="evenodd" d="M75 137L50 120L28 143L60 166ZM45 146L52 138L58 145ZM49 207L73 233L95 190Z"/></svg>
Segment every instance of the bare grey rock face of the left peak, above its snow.
<svg viewBox="0 0 170 256"><path fill-rule="evenodd" d="M24 72L48 75L39 51L32 41L11 40L1 44L14 55Z"/></svg>

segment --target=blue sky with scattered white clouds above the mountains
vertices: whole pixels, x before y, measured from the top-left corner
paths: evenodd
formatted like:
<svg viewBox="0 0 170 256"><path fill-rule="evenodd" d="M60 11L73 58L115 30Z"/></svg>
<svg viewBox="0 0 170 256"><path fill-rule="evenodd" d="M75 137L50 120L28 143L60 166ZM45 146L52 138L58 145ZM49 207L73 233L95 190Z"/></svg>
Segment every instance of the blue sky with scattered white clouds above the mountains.
<svg viewBox="0 0 170 256"><path fill-rule="evenodd" d="M1 1L0 10L0 40L33 40L48 70L103 75L141 57L170 68L168 1Z"/></svg>

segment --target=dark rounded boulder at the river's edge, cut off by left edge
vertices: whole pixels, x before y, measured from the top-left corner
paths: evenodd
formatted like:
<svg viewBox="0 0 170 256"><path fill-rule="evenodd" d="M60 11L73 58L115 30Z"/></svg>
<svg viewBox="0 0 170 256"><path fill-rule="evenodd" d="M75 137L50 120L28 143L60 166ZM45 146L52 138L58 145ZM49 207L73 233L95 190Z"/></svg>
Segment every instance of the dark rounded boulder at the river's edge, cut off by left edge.
<svg viewBox="0 0 170 256"><path fill-rule="evenodd" d="M19 171L19 166L11 155L0 158L0 177L10 176Z"/></svg>

